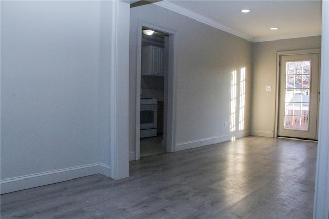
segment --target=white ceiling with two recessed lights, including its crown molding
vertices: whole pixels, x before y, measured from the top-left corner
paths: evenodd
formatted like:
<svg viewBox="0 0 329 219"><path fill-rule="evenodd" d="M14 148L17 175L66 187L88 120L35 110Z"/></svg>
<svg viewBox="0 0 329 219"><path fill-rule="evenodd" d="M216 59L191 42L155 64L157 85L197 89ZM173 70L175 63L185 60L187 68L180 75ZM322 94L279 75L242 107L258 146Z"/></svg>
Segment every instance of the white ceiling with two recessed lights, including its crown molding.
<svg viewBox="0 0 329 219"><path fill-rule="evenodd" d="M320 0L162 0L153 4L251 42L321 35ZM242 9L250 12L241 13Z"/></svg>

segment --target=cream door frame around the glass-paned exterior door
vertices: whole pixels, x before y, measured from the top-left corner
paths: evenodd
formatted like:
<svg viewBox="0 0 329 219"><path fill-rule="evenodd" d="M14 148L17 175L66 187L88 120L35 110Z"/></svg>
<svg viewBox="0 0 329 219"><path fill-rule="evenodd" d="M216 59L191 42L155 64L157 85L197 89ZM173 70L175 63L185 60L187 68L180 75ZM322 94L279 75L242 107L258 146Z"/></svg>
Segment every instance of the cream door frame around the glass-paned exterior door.
<svg viewBox="0 0 329 219"><path fill-rule="evenodd" d="M303 55L303 54L315 54L321 53L321 49L307 49L307 50L295 50L295 51L282 51L277 52L277 74L276 74L276 112L274 122L274 137L278 137L278 119L279 119L279 88L280 88L280 57L286 55ZM320 68L319 68L320 69ZM321 74L321 70L320 70Z"/></svg>

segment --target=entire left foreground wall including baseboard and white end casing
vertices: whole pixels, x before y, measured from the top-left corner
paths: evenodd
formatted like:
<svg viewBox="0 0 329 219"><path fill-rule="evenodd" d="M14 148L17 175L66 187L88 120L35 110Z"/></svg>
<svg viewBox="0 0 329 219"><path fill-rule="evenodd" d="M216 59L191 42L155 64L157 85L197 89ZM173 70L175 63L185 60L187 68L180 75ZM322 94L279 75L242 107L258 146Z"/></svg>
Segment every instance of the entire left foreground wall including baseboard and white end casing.
<svg viewBox="0 0 329 219"><path fill-rule="evenodd" d="M1 2L2 193L128 175L128 42L126 3Z"/></svg>

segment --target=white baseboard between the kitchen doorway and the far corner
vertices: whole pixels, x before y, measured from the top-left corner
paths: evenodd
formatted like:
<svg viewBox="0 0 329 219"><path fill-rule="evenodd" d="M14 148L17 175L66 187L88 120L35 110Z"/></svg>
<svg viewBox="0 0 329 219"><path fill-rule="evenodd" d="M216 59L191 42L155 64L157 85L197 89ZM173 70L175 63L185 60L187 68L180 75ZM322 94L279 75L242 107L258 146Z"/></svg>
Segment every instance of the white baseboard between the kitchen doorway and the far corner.
<svg viewBox="0 0 329 219"><path fill-rule="evenodd" d="M178 143L178 144L176 144L175 151L181 151L181 150L187 150L187 149L191 149L191 148L202 147L202 146L206 146L206 145L217 144L217 143L221 143L221 142L230 141L232 139L232 137L240 138L240 137L246 137L249 135L250 135L250 132L242 132L242 133L233 134L233 135L209 137L209 138L203 138L203 139L198 139L198 140L184 142L184 143Z"/></svg>

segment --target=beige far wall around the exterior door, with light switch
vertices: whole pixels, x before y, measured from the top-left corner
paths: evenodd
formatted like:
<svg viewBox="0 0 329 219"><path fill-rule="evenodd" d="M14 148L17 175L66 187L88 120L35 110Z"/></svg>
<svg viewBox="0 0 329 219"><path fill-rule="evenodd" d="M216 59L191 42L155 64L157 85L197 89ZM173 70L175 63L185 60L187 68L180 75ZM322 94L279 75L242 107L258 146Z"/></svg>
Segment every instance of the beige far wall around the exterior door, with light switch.
<svg viewBox="0 0 329 219"><path fill-rule="evenodd" d="M321 36L253 43L253 135L274 136L277 52L317 48L321 48ZM267 92L266 86L271 86L272 90Z"/></svg>

